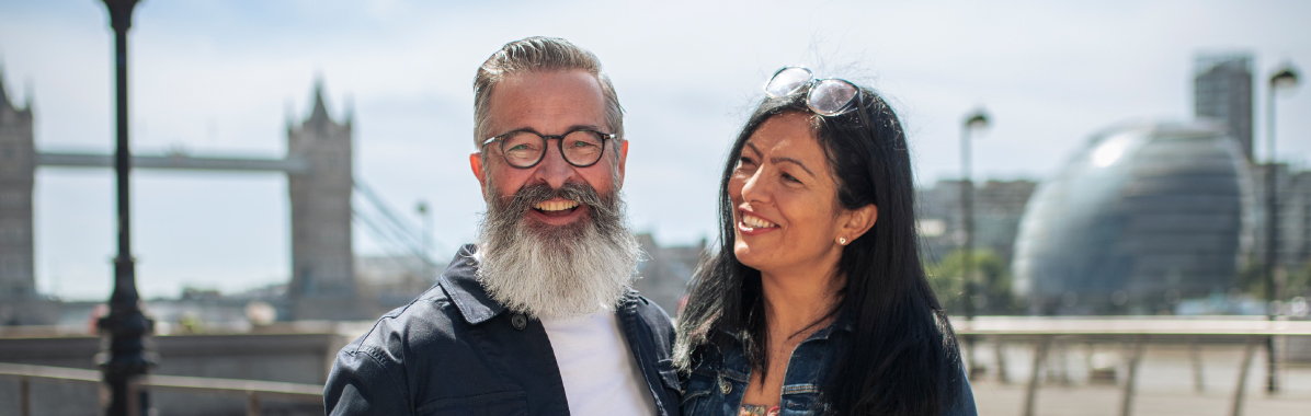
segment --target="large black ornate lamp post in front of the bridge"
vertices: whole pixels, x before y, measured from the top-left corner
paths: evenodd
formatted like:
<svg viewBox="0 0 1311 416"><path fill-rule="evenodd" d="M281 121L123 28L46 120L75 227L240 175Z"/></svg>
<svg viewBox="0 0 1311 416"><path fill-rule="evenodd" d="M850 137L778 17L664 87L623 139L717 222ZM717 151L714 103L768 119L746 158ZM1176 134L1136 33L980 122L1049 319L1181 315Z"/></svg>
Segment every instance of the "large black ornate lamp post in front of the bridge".
<svg viewBox="0 0 1311 416"><path fill-rule="evenodd" d="M142 314L136 292L136 269L132 260L131 205L128 174L131 150L127 147L127 30L132 26L132 8L138 0L104 0L109 8L110 26L114 27L114 68L117 73L118 147L114 153L114 171L118 182L118 256L114 258L114 293L109 297L109 315L97 322L101 335L109 338L108 351L101 352L100 365L105 385L110 391L110 416L127 416L128 403L144 415L149 408L146 391L128 396L132 378L146 374L152 365L147 357L146 336L153 322ZM132 415L138 416L138 415Z"/></svg>

